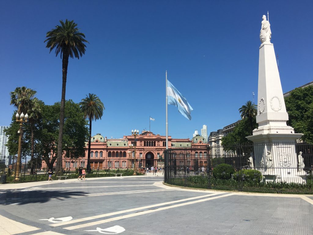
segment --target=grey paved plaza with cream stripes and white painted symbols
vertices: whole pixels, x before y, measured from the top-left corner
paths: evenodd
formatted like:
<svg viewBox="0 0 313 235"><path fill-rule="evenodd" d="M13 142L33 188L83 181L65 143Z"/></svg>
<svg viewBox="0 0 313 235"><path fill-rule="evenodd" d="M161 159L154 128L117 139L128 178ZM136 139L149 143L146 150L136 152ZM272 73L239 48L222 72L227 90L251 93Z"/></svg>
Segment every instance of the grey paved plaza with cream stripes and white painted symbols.
<svg viewBox="0 0 313 235"><path fill-rule="evenodd" d="M0 185L0 234L312 234L313 197L183 189L162 176Z"/></svg>

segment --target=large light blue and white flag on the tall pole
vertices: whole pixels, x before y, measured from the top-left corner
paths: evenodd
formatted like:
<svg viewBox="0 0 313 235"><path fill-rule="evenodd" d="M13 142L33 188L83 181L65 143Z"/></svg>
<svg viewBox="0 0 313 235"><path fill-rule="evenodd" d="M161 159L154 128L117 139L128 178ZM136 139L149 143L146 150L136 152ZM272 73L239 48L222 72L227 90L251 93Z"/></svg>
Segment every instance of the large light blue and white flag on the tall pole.
<svg viewBox="0 0 313 235"><path fill-rule="evenodd" d="M193 110L186 98L167 80L167 104L178 107L178 112L185 118L191 120L190 113Z"/></svg>

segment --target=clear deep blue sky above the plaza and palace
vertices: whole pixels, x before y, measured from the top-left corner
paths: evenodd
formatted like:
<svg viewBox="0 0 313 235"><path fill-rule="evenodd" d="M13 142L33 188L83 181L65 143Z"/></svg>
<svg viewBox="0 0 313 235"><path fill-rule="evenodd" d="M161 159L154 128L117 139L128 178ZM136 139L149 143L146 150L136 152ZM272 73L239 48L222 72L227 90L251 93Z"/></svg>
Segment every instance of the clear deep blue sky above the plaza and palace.
<svg viewBox="0 0 313 235"><path fill-rule="evenodd" d="M69 59L66 99L88 93L105 105L92 134L121 138L131 129L165 135L165 71L193 107L192 120L168 106L169 135L192 138L240 119L258 91L259 32L269 11L283 91L313 80L313 1L2 1L1 116L10 91L27 86L46 104L61 99L62 63L44 40L59 20L74 20L90 42Z"/></svg>

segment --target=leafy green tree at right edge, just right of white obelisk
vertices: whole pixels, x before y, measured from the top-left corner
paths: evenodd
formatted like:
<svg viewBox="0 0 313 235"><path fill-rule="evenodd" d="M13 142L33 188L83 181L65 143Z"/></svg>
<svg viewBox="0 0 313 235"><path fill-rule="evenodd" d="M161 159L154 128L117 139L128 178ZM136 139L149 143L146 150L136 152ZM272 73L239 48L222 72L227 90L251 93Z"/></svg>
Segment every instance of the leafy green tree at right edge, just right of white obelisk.
<svg viewBox="0 0 313 235"><path fill-rule="evenodd" d="M313 143L313 86L296 88L285 98L289 121L295 133L303 133L302 140Z"/></svg>

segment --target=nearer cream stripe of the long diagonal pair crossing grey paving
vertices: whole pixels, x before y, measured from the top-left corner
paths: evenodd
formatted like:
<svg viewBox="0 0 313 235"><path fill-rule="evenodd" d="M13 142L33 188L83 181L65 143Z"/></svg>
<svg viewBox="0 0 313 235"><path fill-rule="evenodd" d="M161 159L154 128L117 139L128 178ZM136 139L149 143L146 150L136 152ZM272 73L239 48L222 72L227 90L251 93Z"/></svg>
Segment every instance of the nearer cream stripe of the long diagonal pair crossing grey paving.
<svg viewBox="0 0 313 235"><path fill-rule="evenodd" d="M90 227L90 226L94 226L94 225L98 225L98 224L102 224L102 223L107 223L107 222L112 222L112 221L116 221L116 220L131 218L131 217L140 216L140 215L153 213L153 212L159 212L159 211L163 211L163 210L167 210L167 209L171 209L171 208L175 208L175 207L180 207L180 206L191 205L191 204L195 204L195 203L199 203L199 202L210 201L210 200L214 200L214 199L218 199L218 198L222 198L222 197L227 197L227 196L231 196L231 195L233 195L233 193L224 194L224 195L215 196L215 197L209 197L209 198L200 199L197 201L180 203L180 204L176 204L176 205L172 205L172 206L165 206L165 207L157 208L155 210L135 212L133 214L113 217L113 218L109 218L109 219L104 219L104 220L99 220L99 221L95 221L95 222L80 224L80 225L76 225L76 226L64 227L64 229L73 230L73 229L77 229L77 228ZM51 225L51 226L53 226L53 225Z"/></svg>

